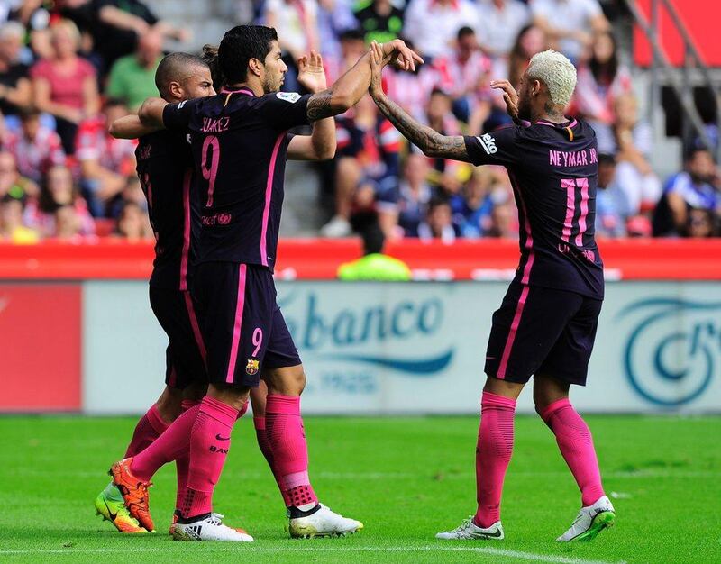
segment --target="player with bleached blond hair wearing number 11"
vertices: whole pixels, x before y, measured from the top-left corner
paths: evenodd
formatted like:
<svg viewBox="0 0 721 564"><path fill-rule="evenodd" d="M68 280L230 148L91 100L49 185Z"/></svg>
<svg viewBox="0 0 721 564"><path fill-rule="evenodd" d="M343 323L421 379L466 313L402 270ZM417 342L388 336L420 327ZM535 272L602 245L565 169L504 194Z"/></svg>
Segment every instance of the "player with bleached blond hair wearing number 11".
<svg viewBox="0 0 721 564"><path fill-rule="evenodd" d="M531 59L520 94L503 91L516 126L481 137L444 136L388 99L380 82L386 60L371 47L370 94L380 111L429 157L502 165L514 188L521 262L493 314L476 449L478 510L439 539L503 539L500 501L513 450L516 398L534 376L538 414L556 436L581 491L576 520L558 541L593 539L611 526L614 507L601 485L589 427L569 401L584 386L603 299L603 265L594 240L598 151L586 123L563 114L576 69L552 50ZM524 123L526 122L526 123Z"/></svg>

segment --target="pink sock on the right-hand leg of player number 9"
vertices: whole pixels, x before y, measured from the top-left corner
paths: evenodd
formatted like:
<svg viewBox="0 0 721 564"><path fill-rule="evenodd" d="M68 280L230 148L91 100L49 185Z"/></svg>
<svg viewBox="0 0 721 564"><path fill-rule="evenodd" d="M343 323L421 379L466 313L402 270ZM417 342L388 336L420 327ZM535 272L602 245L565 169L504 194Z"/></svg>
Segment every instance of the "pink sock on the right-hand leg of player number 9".
<svg viewBox="0 0 721 564"><path fill-rule="evenodd" d="M308 478L308 448L300 416L300 397L269 394L266 404L266 438L287 505L307 511L318 504ZM288 503L289 502L289 503Z"/></svg>

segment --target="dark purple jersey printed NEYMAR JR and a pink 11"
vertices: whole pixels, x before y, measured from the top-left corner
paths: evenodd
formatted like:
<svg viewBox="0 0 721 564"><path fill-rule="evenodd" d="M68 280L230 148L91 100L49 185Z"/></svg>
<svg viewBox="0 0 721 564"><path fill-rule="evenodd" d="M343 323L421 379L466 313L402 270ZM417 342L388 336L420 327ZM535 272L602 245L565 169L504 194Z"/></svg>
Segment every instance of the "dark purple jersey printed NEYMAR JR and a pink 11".
<svg viewBox="0 0 721 564"><path fill-rule="evenodd" d="M602 298L594 238L598 151L589 125L542 121L465 141L473 164L507 168L520 223L516 281Z"/></svg>

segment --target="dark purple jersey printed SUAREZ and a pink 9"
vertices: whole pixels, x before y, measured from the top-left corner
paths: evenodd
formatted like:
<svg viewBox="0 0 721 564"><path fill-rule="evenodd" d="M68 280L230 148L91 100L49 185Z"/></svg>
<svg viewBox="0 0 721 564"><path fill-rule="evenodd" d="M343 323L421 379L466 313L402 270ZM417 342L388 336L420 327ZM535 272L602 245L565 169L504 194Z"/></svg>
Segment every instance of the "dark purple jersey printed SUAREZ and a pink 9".
<svg viewBox="0 0 721 564"><path fill-rule="evenodd" d="M308 98L287 92L255 96L240 88L166 106L166 127L190 131L201 210L198 264L230 261L273 269L287 131L308 123Z"/></svg>

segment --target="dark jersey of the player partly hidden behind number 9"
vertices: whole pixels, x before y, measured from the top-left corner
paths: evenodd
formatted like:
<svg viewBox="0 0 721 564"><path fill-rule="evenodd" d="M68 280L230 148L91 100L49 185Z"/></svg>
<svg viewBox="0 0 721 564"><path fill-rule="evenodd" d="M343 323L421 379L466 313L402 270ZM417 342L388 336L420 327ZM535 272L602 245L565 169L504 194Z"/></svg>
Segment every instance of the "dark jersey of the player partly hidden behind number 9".
<svg viewBox="0 0 721 564"><path fill-rule="evenodd" d="M135 157L155 233L151 286L187 290L199 223L193 160L186 135L161 131L141 138Z"/></svg>

